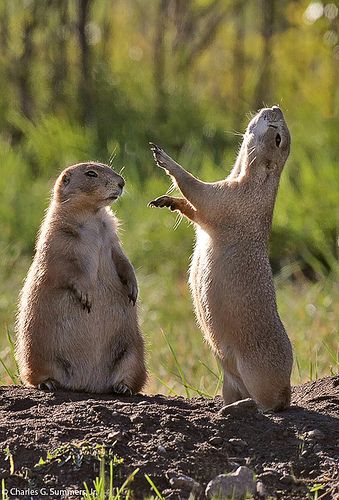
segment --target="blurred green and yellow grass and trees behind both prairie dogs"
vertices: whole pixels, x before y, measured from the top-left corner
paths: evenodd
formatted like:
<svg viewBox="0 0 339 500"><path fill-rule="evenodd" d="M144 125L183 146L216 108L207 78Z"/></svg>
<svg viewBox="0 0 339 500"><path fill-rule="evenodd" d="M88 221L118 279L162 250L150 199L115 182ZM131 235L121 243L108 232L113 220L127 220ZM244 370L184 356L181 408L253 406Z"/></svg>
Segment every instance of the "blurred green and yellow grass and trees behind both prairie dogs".
<svg viewBox="0 0 339 500"><path fill-rule="evenodd" d="M203 180L224 178L250 113L282 107L292 134L272 229L293 382L338 370L338 6L309 0L0 2L0 380L15 380L17 295L66 166L110 162L140 285L149 392L213 395L219 369L187 286L194 231L147 208L166 192L148 141ZM186 387L185 387L186 386Z"/></svg>

